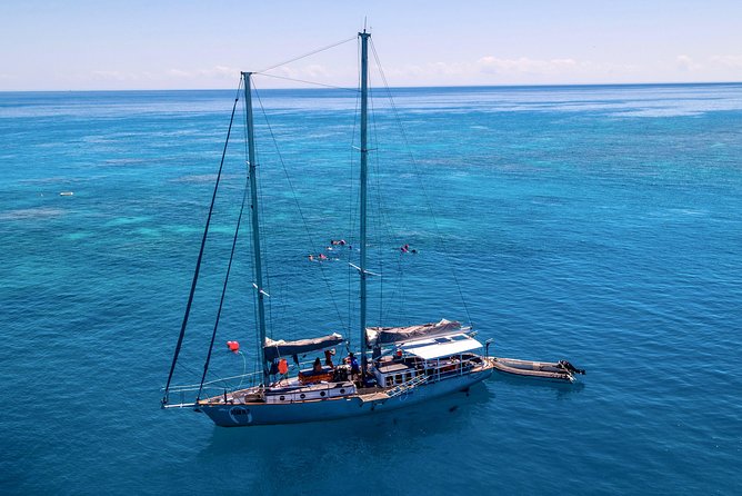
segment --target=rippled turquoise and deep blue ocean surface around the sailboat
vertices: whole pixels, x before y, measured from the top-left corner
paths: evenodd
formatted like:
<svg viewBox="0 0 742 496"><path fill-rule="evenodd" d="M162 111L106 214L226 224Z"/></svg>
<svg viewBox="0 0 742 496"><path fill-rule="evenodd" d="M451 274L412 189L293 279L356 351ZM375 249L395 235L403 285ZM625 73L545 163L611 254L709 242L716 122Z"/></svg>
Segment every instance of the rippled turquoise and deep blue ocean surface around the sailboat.
<svg viewBox="0 0 742 496"><path fill-rule="evenodd" d="M582 381L299 426L162 410L234 91L6 92L0 493L740 494L742 85L374 93L369 324L460 319ZM357 95L258 103L270 333L357 347L357 254L327 250L358 238ZM241 117L232 138L173 384L213 329ZM253 369L249 232L210 378Z"/></svg>

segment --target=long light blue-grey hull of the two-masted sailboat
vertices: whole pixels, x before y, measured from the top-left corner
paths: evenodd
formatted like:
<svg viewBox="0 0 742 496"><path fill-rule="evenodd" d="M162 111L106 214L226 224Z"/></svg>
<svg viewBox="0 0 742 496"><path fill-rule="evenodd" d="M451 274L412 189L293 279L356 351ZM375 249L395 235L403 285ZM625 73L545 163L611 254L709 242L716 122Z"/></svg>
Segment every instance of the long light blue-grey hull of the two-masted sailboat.
<svg viewBox="0 0 742 496"><path fill-rule="evenodd" d="M467 390L472 385L492 375L491 366L467 375L428 383L408 391L379 399L372 395L352 395L341 398L297 401L285 404L247 403L199 405L198 410L207 414L214 424L222 427L249 427L274 424L300 424L358 417L378 411L388 411L415 405L457 391Z"/></svg>

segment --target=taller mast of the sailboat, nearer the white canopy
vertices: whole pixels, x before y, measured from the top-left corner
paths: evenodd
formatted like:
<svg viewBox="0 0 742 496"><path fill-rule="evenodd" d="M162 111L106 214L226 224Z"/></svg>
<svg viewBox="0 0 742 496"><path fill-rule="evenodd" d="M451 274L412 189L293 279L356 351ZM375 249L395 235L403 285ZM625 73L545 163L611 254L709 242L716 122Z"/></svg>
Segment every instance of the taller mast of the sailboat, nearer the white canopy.
<svg viewBox="0 0 742 496"><path fill-rule="evenodd" d="M361 377L365 378L368 344L365 339L365 245L367 245L367 180L368 180L368 110L369 110L369 38L371 33L359 32L361 38Z"/></svg>

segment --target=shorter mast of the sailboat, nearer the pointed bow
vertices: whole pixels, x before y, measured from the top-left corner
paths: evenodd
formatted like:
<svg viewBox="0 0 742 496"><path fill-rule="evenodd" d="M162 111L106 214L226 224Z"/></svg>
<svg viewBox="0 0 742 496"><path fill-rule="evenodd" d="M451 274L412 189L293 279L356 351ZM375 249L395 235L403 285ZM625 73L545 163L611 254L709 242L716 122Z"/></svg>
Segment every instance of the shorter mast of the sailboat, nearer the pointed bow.
<svg viewBox="0 0 742 496"><path fill-rule="evenodd" d="M255 139L253 133L252 121L252 88L251 88L252 72L242 72L244 79L244 106L245 106L245 125L248 130L248 175L250 177L250 211L252 220L252 249L254 261L255 281L253 284L258 291L258 329L260 334L260 358L261 367L263 369L263 377L268 377L269 369L265 365L265 306L263 297L263 268L260 258L260 224L258 221L258 178L255 171Z"/></svg>

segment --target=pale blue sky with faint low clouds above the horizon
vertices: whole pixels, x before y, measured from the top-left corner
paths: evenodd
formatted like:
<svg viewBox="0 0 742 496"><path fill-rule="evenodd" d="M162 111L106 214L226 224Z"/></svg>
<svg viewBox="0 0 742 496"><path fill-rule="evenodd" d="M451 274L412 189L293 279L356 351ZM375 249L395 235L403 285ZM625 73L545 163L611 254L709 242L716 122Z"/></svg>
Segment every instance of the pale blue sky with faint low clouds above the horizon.
<svg viewBox="0 0 742 496"><path fill-rule="evenodd" d="M232 88L364 17L391 86L742 81L740 0L8 0L0 90ZM355 52L273 72L352 86Z"/></svg>

